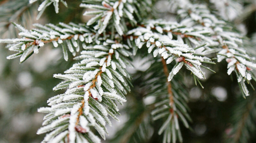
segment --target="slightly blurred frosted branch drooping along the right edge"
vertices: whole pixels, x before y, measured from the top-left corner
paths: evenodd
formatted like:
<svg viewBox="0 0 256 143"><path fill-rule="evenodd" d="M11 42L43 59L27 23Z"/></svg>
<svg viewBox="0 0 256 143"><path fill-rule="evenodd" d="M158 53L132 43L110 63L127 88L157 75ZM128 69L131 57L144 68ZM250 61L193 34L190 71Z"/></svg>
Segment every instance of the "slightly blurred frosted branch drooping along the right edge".
<svg viewBox="0 0 256 143"><path fill-rule="evenodd" d="M214 41L217 41L218 48L217 61L226 60L228 63L228 75L235 72L237 82L243 97L249 95L245 82L250 84L252 78L251 70L256 69L255 57L249 56L243 45L243 36L235 32L228 23L217 18L203 4L191 4L186 6L177 1L179 8L177 14L182 18L181 23L188 27L204 27L211 31L209 34Z"/></svg>

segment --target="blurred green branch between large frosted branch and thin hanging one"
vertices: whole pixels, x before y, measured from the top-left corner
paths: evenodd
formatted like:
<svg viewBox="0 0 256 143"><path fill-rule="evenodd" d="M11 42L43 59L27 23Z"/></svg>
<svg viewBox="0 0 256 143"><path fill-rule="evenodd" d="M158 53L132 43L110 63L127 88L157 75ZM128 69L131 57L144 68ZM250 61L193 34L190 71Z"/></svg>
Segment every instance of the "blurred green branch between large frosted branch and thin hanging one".
<svg viewBox="0 0 256 143"><path fill-rule="evenodd" d="M138 83L136 79L133 79L132 83ZM134 85L133 84L133 85ZM135 85L134 85L135 86ZM127 97L129 102L133 104L126 104L125 109L121 110L122 115L128 116L128 121L122 124L122 127L118 129L113 139L109 142L112 143L146 143L150 141L154 132L151 123L150 109L145 106L143 100L138 94L138 90L131 91ZM124 113L125 112L125 113Z"/></svg>

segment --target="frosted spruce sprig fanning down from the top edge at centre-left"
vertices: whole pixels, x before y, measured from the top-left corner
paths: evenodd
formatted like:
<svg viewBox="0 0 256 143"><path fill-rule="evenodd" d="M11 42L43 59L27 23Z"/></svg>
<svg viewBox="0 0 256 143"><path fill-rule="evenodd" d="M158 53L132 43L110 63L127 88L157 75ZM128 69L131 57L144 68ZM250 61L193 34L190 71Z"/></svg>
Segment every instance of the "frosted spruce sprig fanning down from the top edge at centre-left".
<svg viewBox="0 0 256 143"><path fill-rule="evenodd" d="M127 29L125 22L135 26L137 20L141 19L139 11L145 10L147 4L148 2L145 0L84 0L80 7L95 9L95 11L85 11L84 16L95 15L87 22L87 25L90 26L97 23L93 28L99 34L103 33L109 25L109 27L116 29L119 35L123 35ZM140 8L136 5L140 5Z"/></svg>

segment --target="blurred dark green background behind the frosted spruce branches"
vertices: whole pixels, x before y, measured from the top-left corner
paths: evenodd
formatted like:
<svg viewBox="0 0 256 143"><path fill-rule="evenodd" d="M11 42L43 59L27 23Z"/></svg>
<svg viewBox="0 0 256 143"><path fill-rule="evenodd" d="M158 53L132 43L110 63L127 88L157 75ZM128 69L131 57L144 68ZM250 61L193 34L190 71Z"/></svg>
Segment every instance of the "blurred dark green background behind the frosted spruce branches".
<svg viewBox="0 0 256 143"><path fill-rule="evenodd" d="M56 14L53 5L49 6L41 19L36 20L39 2L28 4L28 0L0 0L0 38L18 37L18 31L10 22L21 24L27 29L33 23L86 22L89 18L82 16L84 9L79 8L80 1L66 0L68 8L60 4L60 13ZM158 0L155 4L157 17L177 21L170 9L171 0ZM40 1L41 2L41 1ZM198 0L206 3L212 12L235 24L240 33L248 39L248 51L255 54L256 48L256 1L255 0ZM63 73L75 63L70 55L64 61L61 48L47 45L36 55L32 55L24 63L19 59L7 60L12 52L0 44L0 143L39 143L44 135L36 135L41 127L44 114L37 108L47 106L46 101L64 90L53 92L52 88L61 80L53 78L55 73ZM144 61L143 61L144 60ZM133 75L133 91L127 95L127 102L120 107L121 122L112 122L108 127L110 135L106 143L133 142L138 128L145 131L145 138L140 142L162 142L162 135L157 135L161 124L149 120L150 102L145 98L144 89L140 85L144 71L150 66L144 59L133 61L135 69L128 69ZM143 64L135 64L143 63ZM182 129L185 143L224 143L230 139L245 138L248 143L256 142L256 92L244 100L236 82L226 74L224 62L211 67L216 74L206 73L206 79L200 86L195 86L193 79L186 77L190 97L190 116L193 119L191 129ZM255 86L255 82L252 82ZM142 123L142 124L141 124ZM154 132L155 131L155 132ZM232 141L233 142L233 141Z"/></svg>

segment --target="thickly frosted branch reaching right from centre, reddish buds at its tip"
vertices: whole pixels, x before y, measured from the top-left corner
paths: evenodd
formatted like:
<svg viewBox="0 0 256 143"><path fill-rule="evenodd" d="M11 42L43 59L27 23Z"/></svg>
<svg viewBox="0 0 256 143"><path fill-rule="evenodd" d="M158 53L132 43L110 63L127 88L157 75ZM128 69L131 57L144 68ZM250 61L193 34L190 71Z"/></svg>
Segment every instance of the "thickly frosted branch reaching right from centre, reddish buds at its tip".
<svg viewBox="0 0 256 143"><path fill-rule="evenodd" d="M196 75L196 77L200 79L205 78L204 72L201 70L201 64L215 64L210 58L204 55L196 55L195 49L201 48L205 44L202 46L197 45L199 47L193 49L184 43L183 38L191 38L194 41L199 41L198 39L200 38L201 41L208 42L209 45L214 44L213 41L210 41L208 37L204 36L207 33L208 31L205 30L184 28L177 23L152 20L145 22L144 25L138 28L128 31L126 38L128 41L132 41L139 49L143 45L146 45L148 53L153 52L154 57L160 54L164 59L167 59L167 64L170 64L175 59L177 64L173 67L168 77L168 81L171 81L183 65ZM199 44L199 42L195 44Z"/></svg>

